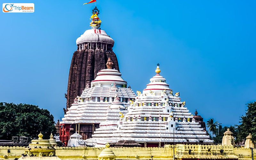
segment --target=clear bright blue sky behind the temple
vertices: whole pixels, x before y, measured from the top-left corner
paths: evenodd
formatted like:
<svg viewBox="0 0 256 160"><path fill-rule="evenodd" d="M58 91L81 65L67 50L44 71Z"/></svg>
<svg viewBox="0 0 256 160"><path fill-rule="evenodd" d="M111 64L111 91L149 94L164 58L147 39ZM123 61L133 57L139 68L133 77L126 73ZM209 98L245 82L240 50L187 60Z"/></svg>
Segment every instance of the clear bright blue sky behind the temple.
<svg viewBox="0 0 256 160"><path fill-rule="evenodd" d="M89 0L31 1L34 13L0 13L0 101L66 107L76 39L90 29ZM3 2L3 3L8 3ZM256 100L255 1L97 0L101 29L114 41L122 77L142 91L161 75L194 114L239 124Z"/></svg>

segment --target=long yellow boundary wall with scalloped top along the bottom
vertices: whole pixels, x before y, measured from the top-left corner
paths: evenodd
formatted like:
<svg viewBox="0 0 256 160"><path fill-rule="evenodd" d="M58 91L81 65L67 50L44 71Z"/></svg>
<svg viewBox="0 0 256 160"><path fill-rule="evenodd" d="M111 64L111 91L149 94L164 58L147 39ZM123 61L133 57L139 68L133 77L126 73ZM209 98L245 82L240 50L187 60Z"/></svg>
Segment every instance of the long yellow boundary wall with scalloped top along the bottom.
<svg viewBox="0 0 256 160"><path fill-rule="evenodd" d="M102 148L92 147L55 147L56 156L63 160L96 160ZM116 155L116 160L170 160L173 157L173 145L156 147L110 148ZM9 150L9 153L8 153ZM0 160L19 158L25 147L0 146ZM221 153L221 150L223 152ZM197 159L237 159L251 160L250 148L234 148L232 145L183 145L177 144L174 148L175 158ZM256 149L253 149L256 159Z"/></svg>

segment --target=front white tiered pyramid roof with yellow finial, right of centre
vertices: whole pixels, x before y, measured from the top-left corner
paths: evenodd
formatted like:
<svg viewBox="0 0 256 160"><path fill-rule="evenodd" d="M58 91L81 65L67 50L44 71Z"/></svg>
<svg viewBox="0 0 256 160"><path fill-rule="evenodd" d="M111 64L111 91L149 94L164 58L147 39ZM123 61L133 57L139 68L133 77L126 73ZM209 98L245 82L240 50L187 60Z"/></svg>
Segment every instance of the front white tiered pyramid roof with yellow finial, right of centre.
<svg viewBox="0 0 256 160"><path fill-rule="evenodd" d="M123 120L104 121L96 129L88 145L100 147L106 142L135 140L138 143L212 143L209 135L189 113L185 101L181 102L179 92L174 96L165 78L156 76L150 79L148 89L137 91L135 102L131 101L128 113ZM163 90L164 86L164 90ZM173 137L174 134L174 137Z"/></svg>

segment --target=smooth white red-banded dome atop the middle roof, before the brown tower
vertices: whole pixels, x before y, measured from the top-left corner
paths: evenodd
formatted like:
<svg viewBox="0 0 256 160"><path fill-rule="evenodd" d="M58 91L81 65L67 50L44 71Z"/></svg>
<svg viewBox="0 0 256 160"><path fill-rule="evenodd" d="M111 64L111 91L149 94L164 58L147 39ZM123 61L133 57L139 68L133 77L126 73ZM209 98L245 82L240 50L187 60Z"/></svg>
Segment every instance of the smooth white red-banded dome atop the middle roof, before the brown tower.
<svg viewBox="0 0 256 160"><path fill-rule="evenodd" d="M102 69L97 73L97 77L91 82L92 85L101 87L111 87L113 82L117 87L127 85L127 82L121 77L121 73L116 69Z"/></svg>

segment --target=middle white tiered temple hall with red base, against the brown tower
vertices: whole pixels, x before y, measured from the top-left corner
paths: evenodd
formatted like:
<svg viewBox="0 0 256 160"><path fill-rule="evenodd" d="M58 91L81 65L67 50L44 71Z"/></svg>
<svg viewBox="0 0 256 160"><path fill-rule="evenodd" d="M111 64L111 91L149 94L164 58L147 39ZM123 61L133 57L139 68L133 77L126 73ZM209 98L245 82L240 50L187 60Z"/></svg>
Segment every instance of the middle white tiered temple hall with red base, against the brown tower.
<svg viewBox="0 0 256 160"><path fill-rule="evenodd" d="M86 84L81 96L77 96L60 122L60 140L68 144L69 136L77 132L83 139L91 138L94 130L104 121L118 121L119 115L125 115L134 100L135 93L121 77L121 73L112 69L111 58L107 60L107 69L98 72L91 86Z"/></svg>

